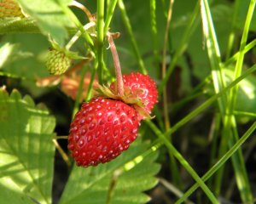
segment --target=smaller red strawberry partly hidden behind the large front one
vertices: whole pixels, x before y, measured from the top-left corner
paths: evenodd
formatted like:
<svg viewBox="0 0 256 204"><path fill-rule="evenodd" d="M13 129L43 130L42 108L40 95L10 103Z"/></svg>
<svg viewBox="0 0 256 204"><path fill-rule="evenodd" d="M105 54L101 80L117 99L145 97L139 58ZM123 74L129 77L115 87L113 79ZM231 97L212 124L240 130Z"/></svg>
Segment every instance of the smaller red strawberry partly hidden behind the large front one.
<svg viewBox="0 0 256 204"><path fill-rule="evenodd" d="M158 102L158 92L154 80L140 72L132 72L123 75L123 81L125 94L128 92L129 97L138 97L143 102L144 110L150 114ZM110 85L110 88L113 92L115 91L115 82ZM139 119L143 119L143 116L140 116Z"/></svg>

